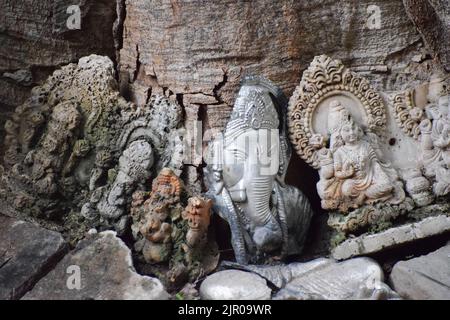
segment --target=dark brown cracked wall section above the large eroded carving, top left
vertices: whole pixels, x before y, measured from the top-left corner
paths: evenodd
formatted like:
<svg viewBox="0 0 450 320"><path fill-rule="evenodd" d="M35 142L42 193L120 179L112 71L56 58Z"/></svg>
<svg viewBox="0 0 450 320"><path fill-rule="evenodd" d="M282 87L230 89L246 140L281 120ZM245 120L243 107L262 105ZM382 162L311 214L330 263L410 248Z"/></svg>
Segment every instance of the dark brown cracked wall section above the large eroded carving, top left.
<svg viewBox="0 0 450 320"><path fill-rule="evenodd" d="M73 4L79 4L80 29L70 23L77 15L69 9ZM116 2L109 0L4 1L0 17L0 103L23 103L33 85L41 83L55 68L85 55L113 58L116 17Z"/></svg>

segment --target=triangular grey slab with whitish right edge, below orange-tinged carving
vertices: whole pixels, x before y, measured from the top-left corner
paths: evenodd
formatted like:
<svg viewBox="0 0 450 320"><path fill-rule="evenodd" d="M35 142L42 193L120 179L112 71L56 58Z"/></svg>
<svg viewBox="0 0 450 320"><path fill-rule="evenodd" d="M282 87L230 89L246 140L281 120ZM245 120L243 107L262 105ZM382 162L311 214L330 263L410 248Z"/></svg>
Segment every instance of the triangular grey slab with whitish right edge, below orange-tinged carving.
<svg viewBox="0 0 450 320"><path fill-rule="evenodd" d="M168 297L159 280L134 271L130 250L114 232L106 231L80 242L23 299L164 300Z"/></svg>

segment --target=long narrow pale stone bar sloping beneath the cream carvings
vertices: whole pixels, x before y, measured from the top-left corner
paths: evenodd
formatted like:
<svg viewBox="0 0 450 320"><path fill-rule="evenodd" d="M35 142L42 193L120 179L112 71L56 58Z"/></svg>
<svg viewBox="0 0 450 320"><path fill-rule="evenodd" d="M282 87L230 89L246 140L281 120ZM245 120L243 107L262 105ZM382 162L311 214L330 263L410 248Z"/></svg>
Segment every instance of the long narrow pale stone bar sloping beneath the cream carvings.
<svg viewBox="0 0 450 320"><path fill-rule="evenodd" d="M333 250L332 256L338 260L348 259L449 231L449 216L429 217L417 223L391 228L377 234L362 235L348 239Z"/></svg>

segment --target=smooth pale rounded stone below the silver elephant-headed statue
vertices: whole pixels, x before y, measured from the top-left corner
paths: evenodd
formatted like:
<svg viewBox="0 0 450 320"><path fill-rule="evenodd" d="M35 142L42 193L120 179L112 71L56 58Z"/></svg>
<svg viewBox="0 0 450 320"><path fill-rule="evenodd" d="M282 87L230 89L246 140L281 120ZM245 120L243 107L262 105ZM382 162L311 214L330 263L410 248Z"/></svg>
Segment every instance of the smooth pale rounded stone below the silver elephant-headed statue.
<svg viewBox="0 0 450 320"><path fill-rule="evenodd" d="M204 300L269 300L271 293L266 280L239 270L214 273L200 287Z"/></svg>

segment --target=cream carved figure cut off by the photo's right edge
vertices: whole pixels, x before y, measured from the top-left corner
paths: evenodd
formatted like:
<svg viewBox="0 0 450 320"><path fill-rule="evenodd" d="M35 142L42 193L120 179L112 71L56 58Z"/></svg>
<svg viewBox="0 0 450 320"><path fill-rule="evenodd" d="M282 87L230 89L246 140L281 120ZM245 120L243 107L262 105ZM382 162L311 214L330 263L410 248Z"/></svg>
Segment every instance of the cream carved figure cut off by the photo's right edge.
<svg viewBox="0 0 450 320"><path fill-rule="evenodd" d="M418 205L430 204L434 200L429 192L426 195L430 183L435 196L444 196L450 191L448 161L445 160L450 142L446 129L449 125L448 81L448 77L434 74L427 84L393 97L397 123L407 135L420 142L417 168L411 168L414 173L406 175L406 178L414 176L416 182L405 179ZM425 177L429 183L424 181Z"/></svg>

